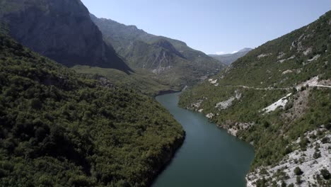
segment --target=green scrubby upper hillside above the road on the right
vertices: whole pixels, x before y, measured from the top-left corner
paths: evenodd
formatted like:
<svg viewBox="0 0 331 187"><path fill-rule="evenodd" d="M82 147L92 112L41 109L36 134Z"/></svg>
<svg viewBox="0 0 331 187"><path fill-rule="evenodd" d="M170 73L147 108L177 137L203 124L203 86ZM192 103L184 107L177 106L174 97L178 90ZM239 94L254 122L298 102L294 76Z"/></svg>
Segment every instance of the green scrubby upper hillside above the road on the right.
<svg viewBox="0 0 331 187"><path fill-rule="evenodd" d="M328 12L309 26L252 50L220 74L224 77L220 84L281 88L318 75L330 79L330 17Z"/></svg>

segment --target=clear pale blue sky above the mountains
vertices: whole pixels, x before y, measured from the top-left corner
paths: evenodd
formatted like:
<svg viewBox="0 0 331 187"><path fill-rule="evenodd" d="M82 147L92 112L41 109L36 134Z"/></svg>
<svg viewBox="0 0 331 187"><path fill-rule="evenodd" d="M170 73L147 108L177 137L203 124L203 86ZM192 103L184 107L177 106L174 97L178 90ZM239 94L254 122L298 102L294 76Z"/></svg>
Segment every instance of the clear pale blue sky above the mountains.
<svg viewBox="0 0 331 187"><path fill-rule="evenodd" d="M82 1L99 18L182 40L207 54L257 47L331 10L331 0Z"/></svg>

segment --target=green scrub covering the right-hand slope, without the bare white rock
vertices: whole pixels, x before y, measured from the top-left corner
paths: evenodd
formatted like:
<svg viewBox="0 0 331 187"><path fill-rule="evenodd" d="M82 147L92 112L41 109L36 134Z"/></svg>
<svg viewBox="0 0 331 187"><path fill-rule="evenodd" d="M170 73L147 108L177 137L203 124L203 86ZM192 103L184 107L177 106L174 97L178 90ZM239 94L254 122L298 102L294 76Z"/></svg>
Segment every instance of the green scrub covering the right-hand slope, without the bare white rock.
<svg viewBox="0 0 331 187"><path fill-rule="evenodd" d="M256 149L252 169L277 164L297 147L290 143L304 133L325 127L330 133L331 89L292 88L313 77L330 85L331 12L309 26L252 50L231 67L180 96L180 106L212 113L211 120L222 128L238 130L236 135ZM243 87L248 86L248 87ZM269 88L269 89L268 89ZM216 107L240 93L228 108ZM265 113L263 108L291 93L283 108ZM198 103L198 105L197 105Z"/></svg>

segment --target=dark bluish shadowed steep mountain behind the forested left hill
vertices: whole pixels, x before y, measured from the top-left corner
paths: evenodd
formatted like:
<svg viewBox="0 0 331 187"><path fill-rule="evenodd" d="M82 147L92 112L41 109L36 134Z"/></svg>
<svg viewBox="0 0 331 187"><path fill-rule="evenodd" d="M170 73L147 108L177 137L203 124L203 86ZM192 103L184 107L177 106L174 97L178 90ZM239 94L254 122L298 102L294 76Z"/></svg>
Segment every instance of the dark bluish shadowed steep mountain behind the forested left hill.
<svg viewBox="0 0 331 187"><path fill-rule="evenodd" d="M130 70L105 44L80 0L1 0L0 20L18 42L68 67L83 64Z"/></svg>

